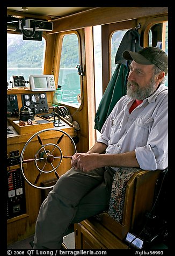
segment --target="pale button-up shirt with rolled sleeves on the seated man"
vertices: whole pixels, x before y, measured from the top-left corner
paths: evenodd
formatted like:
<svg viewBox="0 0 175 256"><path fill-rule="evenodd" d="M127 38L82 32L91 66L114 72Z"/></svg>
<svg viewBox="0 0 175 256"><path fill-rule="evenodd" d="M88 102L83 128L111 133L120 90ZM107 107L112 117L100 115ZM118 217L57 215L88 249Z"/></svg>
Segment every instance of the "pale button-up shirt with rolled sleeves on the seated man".
<svg viewBox="0 0 175 256"><path fill-rule="evenodd" d="M168 166L168 89L164 84L129 114L134 99L123 96L106 119L98 142L106 154L135 151L144 170ZM119 167L112 167L118 170Z"/></svg>

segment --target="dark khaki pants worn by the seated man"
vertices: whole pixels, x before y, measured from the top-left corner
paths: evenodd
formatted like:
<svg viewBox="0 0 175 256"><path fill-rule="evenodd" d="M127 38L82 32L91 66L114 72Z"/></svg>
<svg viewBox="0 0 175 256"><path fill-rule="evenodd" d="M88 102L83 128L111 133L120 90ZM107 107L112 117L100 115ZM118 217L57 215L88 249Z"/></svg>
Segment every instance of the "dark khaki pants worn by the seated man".
<svg viewBox="0 0 175 256"><path fill-rule="evenodd" d="M35 226L34 249L59 249L72 223L108 208L115 171L110 167L83 173L71 168L43 201Z"/></svg>

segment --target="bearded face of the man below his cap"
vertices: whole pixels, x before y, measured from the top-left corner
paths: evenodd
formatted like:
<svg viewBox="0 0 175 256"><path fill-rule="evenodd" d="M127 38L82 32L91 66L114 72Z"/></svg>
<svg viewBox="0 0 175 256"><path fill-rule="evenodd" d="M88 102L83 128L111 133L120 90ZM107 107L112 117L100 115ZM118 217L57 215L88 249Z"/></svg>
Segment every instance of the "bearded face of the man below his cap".
<svg viewBox="0 0 175 256"><path fill-rule="evenodd" d="M127 95L133 99L148 98L158 84L153 74L154 65L141 65L132 61L127 82Z"/></svg>

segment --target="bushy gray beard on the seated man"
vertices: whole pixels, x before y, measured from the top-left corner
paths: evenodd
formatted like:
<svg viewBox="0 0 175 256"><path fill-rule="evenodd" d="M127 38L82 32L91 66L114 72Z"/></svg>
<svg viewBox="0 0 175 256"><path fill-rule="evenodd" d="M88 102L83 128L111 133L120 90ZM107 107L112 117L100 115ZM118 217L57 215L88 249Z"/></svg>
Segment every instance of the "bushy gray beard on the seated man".
<svg viewBox="0 0 175 256"><path fill-rule="evenodd" d="M127 96L133 99L143 100L155 91L155 81L150 81L144 88L140 88L135 82L132 82L132 84L135 86L134 90L130 87L130 82L127 82Z"/></svg>

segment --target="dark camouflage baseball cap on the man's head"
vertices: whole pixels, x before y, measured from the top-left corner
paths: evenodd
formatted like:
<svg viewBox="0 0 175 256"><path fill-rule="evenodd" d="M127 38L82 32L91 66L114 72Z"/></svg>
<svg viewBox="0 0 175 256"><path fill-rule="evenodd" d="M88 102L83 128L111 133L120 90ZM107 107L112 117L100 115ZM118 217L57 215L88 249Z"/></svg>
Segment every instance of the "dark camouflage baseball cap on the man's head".
<svg viewBox="0 0 175 256"><path fill-rule="evenodd" d="M123 58L126 60L134 60L135 62L143 65L154 64L159 69L164 71L165 75L167 75L168 58L166 53L158 47L148 46L141 49L141 51L137 53L125 51L123 52Z"/></svg>

